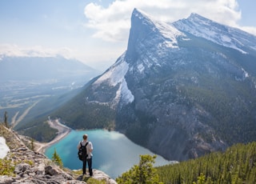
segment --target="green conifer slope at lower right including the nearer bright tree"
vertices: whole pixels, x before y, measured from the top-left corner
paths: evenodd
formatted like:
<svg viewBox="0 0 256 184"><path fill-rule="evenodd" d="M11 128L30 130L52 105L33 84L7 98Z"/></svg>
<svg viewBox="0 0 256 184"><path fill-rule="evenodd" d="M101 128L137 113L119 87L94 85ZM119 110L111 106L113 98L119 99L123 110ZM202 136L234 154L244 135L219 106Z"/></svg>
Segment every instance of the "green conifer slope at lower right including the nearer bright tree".
<svg viewBox="0 0 256 184"><path fill-rule="evenodd" d="M256 183L256 142L231 146L201 158L153 167L154 158L141 155L138 165L117 178L118 183Z"/></svg>

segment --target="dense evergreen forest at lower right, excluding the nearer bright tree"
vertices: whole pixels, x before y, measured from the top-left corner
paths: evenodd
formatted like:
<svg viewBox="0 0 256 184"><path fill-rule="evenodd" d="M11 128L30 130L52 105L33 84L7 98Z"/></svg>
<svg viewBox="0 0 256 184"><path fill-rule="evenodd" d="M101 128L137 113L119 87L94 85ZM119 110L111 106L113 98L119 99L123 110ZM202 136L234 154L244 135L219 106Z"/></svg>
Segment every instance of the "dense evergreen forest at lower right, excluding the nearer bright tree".
<svg viewBox="0 0 256 184"><path fill-rule="evenodd" d="M163 183L256 183L256 142L156 168Z"/></svg>

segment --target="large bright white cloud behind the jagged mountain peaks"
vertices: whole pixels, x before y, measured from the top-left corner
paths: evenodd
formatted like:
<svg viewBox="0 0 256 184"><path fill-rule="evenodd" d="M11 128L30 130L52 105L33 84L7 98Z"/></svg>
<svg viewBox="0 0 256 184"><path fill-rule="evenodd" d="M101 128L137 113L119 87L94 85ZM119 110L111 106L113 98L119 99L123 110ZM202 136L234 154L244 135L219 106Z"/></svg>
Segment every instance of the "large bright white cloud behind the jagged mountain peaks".
<svg viewBox="0 0 256 184"><path fill-rule="evenodd" d="M191 13L201 14L216 22L235 26L256 34L255 27L238 26L241 11L236 0L115 0L108 7L90 3L84 9L86 26L96 30L94 37L106 41L125 41L130 29L130 16L134 8L154 18L174 22Z"/></svg>

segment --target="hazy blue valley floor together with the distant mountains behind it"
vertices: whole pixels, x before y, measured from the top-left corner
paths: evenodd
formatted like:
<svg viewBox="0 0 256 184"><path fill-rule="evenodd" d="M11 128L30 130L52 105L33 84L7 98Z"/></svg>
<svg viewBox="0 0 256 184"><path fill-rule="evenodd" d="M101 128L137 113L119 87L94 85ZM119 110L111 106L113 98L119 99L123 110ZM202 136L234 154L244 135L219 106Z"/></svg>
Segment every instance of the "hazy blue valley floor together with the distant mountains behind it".
<svg viewBox="0 0 256 184"><path fill-rule="evenodd" d="M97 70L78 60L60 56L45 58L2 56L1 117L6 111L8 122L12 126L22 126L61 106L98 74L100 73Z"/></svg>

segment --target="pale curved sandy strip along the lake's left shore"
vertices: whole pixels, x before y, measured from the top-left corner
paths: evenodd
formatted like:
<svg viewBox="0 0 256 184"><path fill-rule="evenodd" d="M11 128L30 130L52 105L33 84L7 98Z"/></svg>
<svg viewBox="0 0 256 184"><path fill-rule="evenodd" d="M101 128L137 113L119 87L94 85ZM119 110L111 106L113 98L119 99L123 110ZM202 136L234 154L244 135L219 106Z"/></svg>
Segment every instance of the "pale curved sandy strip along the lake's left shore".
<svg viewBox="0 0 256 184"><path fill-rule="evenodd" d="M61 122L59 122L58 119L48 120L47 122L49 123L50 127L57 129L58 133L54 140L52 140L51 142L34 142L35 151L43 154L45 153L47 147L52 146L54 143L60 141L62 138L65 138L65 136L71 131L70 127L63 125Z"/></svg>

